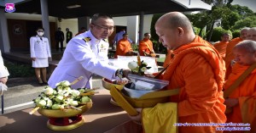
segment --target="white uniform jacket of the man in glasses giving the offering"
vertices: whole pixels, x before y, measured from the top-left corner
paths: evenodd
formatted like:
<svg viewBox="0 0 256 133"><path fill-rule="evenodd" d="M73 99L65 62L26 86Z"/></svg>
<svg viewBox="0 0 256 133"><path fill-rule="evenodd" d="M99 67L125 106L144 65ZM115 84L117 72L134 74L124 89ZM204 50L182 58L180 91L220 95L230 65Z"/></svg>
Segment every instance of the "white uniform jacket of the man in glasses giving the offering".
<svg viewBox="0 0 256 133"><path fill-rule="evenodd" d="M73 37L67 43L60 63L49 78L49 86L55 88L55 84L62 80L73 82L79 76L84 76L72 87L74 89L91 88L93 73L113 80L117 68L108 65L108 47L108 40L96 39L90 30Z"/></svg>

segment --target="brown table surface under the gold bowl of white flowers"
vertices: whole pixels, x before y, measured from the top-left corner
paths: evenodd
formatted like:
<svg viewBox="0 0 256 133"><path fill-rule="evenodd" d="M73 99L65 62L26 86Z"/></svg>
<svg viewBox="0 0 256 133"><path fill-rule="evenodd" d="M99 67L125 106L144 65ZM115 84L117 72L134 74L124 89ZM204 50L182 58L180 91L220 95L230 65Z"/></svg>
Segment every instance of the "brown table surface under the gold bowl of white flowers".
<svg viewBox="0 0 256 133"><path fill-rule="evenodd" d="M92 108L83 114L85 124L73 130L55 131L46 126L48 118L38 114L30 115L32 108L0 115L0 132L72 132L72 133L103 133L130 120L122 108L109 103L110 93L106 89L99 89L99 93L92 97Z"/></svg>

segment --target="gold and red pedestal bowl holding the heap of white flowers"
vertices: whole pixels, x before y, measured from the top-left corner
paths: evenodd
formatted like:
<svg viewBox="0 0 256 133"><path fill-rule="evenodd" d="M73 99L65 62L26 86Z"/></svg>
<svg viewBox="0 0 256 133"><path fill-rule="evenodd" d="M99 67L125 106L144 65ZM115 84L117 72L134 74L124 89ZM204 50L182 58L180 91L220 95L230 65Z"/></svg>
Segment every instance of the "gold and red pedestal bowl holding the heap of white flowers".
<svg viewBox="0 0 256 133"><path fill-rule="evenodd" d="M73 130L84 125L82 114L92 107L92 103L86 103L79 109L65 108L63 110L43 109L39 108L38 113L49 118L47 127L50 130Z"/></svg>

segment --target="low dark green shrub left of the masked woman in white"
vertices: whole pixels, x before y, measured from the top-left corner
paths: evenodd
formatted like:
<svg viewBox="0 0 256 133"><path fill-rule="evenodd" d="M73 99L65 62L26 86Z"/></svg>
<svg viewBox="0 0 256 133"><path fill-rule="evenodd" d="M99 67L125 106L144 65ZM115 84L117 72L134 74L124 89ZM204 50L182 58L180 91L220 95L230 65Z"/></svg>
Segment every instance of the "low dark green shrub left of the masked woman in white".
<svg viewBox="0 0 256 133"><path fill-rule="evenodd" d="M9 60L4 60L4 65L9 70L9 78L29 77L35 75L31 64L21 64Z"/></svg>

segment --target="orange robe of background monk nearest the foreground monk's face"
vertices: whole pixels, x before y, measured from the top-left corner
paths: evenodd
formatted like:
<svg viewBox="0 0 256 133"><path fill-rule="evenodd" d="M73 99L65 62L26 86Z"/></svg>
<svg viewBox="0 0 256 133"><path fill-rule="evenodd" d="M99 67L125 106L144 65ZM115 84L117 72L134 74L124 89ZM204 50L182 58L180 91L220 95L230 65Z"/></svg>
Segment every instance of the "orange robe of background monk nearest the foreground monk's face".
<svg viewBox="0 0 256 133"><path fill-rule="evenodd" d="M147 44L148 44L148 46L147 46ZM154 53L153 43L149 39L144 38L140 42L138 49L139 49L139 53L141 56L145 56L145 54L143 52L148 53L148 54Z"/></svg>

